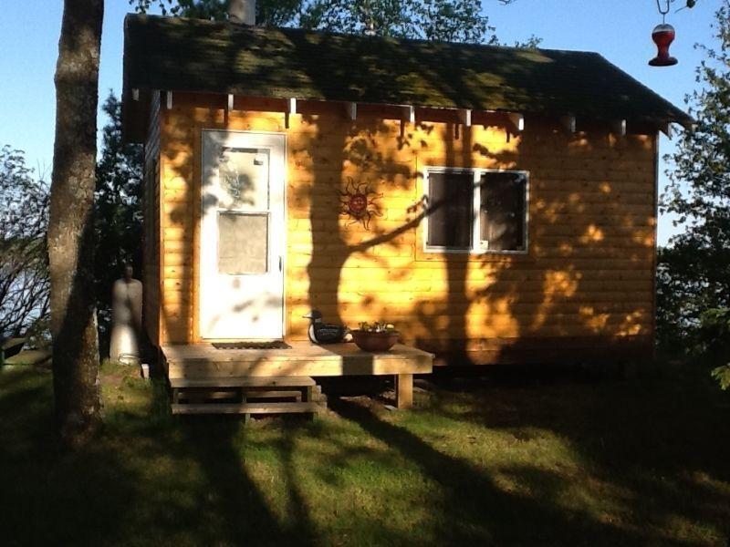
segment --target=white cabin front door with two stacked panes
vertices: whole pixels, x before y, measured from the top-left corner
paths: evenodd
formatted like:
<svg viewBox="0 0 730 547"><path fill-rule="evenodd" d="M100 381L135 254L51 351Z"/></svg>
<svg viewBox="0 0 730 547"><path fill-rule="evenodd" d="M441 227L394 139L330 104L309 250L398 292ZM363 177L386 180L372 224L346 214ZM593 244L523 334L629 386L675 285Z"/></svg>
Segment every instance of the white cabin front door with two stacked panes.
<svg viewBox="0 0 730 547"><path fill-rule="evenodd" d="M200 335L284 334L284 135L203 131Z"/></svg>

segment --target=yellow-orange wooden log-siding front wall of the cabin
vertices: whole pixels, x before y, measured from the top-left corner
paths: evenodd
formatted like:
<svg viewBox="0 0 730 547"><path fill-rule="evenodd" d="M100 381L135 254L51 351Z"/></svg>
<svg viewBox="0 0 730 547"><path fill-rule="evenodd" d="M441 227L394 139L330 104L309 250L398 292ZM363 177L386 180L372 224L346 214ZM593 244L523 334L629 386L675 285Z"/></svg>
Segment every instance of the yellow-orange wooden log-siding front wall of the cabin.
<svg viewBox="0 0 730 547"><path fill-rule="evenodd" d="M175 94L162 110L161 343L199 341L201 130L235 129L287 135L287 338L306 338L301 315L314 307L351 326L384 318L406 341L486 361L518 348L651 346L655 132L622 138L596 124L569 134L528 117L515 135L496 114L464 128L454 112L421 111L413 125L397 109L363 106L350 121L342 105L301 101L287 127L284 101L224 105ZM529 252L424 253L426 166L529 171ZM382 194L370 230L339 214L349 177Z"/></svg>

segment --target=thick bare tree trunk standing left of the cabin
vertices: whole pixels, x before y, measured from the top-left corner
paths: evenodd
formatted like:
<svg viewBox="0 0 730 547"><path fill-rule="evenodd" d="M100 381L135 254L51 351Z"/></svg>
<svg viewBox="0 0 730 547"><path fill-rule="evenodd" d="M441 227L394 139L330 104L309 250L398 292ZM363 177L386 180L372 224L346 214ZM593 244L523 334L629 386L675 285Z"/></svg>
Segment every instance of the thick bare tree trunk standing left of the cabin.
<svg viewBox="0 0 730 547"><path fill-rule="evenodd" d="M68 448L101 423L94 186L103 0L65 0L56 66L48 260L57 428Z"/></svg>

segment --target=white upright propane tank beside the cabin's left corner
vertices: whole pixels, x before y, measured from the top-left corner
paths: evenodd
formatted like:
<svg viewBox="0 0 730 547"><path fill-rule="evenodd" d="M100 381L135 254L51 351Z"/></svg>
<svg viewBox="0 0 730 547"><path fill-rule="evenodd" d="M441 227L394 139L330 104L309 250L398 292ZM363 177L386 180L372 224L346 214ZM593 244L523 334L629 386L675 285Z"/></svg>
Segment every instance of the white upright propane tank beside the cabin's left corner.
<svg viewBox="0 0 730 547"><path fill-rule="evenodd" d="M142 284L133 273L127 266L111 293L110 359L129 365L140 363L142 322Z"/></svg>

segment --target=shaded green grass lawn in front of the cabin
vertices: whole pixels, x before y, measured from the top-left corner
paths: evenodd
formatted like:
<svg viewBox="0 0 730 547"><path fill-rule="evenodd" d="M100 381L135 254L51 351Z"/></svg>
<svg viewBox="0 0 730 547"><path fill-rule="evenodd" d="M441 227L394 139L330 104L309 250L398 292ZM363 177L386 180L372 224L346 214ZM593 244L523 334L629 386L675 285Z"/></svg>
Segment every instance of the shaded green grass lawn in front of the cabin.
<svg viewBox="0 0 730 547"><path fill-rule="evenodd" d="M0 544L725 545L730 397L704 371L439 377L417 408L171 417L105 366L107 427L59 454L50 374L0 371Z"/></svg>

